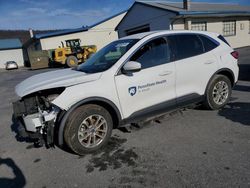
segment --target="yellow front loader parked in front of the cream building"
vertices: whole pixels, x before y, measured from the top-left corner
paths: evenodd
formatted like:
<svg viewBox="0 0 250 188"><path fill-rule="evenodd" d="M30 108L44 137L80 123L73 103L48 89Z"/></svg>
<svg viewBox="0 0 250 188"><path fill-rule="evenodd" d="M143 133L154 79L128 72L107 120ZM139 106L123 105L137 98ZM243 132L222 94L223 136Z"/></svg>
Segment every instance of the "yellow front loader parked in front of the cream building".
<svg viewBox="0 0 250 188"><path fill-rule="evenodd" d="M97 51L95 45L81 46L80 39L66 40L65 43L66 46L64 46L64 43L62 42L62 47L55 49L53 61L68 67L75 67L78 64L85 62Z"/></svg>

